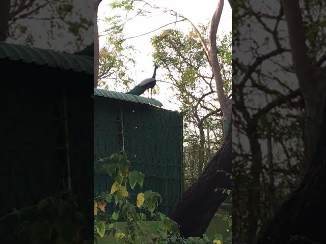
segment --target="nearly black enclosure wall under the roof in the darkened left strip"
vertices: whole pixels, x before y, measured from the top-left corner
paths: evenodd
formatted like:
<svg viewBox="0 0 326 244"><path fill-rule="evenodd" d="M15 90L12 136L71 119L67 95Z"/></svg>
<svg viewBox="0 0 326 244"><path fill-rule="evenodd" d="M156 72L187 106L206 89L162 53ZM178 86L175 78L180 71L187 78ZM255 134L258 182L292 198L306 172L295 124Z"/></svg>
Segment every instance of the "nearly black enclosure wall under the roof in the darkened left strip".
<svg viewBox="0 0 326 244"><path fill-rule="evenodd" d="M10 77L6 71L13 66L0 64L4 77ZM72 190L78 210L93 221L93 76L87 85L80 84L84 75L19 63L15 67L19 72L11 73L10 82L3 82L0 89L0 217L13 207L35 205L53 196L60 180L65 179L65 87ZM3 238L13 232L16 222L16 216L0 221L1 243L11 243ZM89 231L93 235L93 228Z"/></svg>

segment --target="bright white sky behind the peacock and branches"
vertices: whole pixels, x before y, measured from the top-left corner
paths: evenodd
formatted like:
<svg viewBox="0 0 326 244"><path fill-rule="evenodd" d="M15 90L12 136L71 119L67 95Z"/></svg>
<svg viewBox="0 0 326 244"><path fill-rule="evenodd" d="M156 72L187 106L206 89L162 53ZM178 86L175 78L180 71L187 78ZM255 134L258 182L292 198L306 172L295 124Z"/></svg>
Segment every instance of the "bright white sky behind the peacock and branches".
<svg viewBox="0 0 326 244"><path fill-rule="evenodd" d="M99 33L105 29L105 22L101 21L104 17L110 17L110 12L112 14L112 11L110 10L110 7L108 6L108 3L110 3L111 0L104 0L101 2L98 12L98 27L99 27ZM201 23L207 23L217 6L216 0L205 0L205 1L198 1L198 0L165 0L165 1L149 1L149 3L154 3L156 6L159 7L165 7L169 9L173 9L176 12L182 14L183 16L190 19L195 25L198 24L198 22ZM205 4L204 4L205 3ZM151 10L152 11L152 10ZM166 25L167 23L171 23L175 21L175 17L169 15L169 14L161 14L161 10L152 13L151 15L153 17L136 17L132 19L131 21L128 21L124 33L125 37L134 37L139 36L144 33L148 33L153 31L154 29L157 29L163 25ZM125 13L121 13L121 15L125 16ZM131 17L132 15L129 15L128 17ZM231 8L228 3L228 1L225 1L224 3L224 9L223 14L221 17L221 21L219 24L218 29L218 35L222 35L223 33L229 33L231 32ZM152 76L153 73L153 60L152 60L152 46L150 44L150 38L154 35L159 34L164 30L165 28L172 28L176 27L178 29L181 29L181 31L184 31L185 33L188 33L191 26L186 22L179 22L175 24L168 25L164 28L159 29L158 31L155 31L153 33L150 33L148 35L138 37L138 38L132 38L127 40L128 44L133 45L138 51L134 53L135 60L137 60L137 64L135 65L134 70L131 71L130 76L134 80L134 84L140 83L143 79L149 78ZM100 40L100 47L103 45L103 40ZM156 78L159 80L160 77L160 71L157 70L157 76ZM157 82L157 85L160 88L160 94L159 95L153 95L153 98L160 101L164 104L164 108L166 109L173 109L176 110L176 107L173 104L169 104L171 92L168 89L168 86L165 83ZM120 90L117 90L117 92L120 92ZM147 96L147 93L145 93L143 96Z"/></svg>

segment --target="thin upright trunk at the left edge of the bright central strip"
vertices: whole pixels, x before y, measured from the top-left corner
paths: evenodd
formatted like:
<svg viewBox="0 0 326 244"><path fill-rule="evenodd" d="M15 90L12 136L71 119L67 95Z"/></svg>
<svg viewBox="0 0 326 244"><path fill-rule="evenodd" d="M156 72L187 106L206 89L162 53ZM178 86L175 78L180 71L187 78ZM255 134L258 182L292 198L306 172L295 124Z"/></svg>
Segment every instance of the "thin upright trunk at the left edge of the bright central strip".
<svg viewBox="0 0 326 244"><path fill-rule="evenodd" d="M98 27L97 13L98 6L102 0L94 0L94 87L98 85L98 64L99 64L99 43L98 43Z"/></svg>

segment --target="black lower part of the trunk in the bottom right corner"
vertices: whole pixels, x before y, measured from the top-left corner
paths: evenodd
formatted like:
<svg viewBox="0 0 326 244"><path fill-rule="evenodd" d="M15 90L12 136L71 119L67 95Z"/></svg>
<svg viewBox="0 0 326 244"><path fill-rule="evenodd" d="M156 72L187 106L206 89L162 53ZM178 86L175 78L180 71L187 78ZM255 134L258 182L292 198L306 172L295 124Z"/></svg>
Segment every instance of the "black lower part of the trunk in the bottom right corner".
<svg viewBox="0 0 326 244"><path fill-rule="evenodd" d="M326 101L325 101L326 102ZM267 225L257 244L326 243L326 111L316 154L300 187Z"/></svg>

